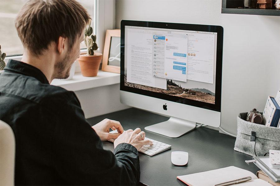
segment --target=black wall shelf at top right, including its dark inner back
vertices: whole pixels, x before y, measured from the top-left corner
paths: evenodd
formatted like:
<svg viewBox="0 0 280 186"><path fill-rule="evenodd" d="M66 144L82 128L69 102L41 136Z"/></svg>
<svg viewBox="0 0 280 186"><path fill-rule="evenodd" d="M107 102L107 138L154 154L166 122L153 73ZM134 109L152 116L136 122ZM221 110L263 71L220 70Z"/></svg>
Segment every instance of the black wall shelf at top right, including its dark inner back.
<svg viewBox="0 0 280 186"><path fill-rule="evenodd" d="M280 16L280 10L276 10L276 9L236 8L236 7L244 7L243 2L244 1L240 1L240 0L222 0L222 14L248 14L248 15Z"/></svg>

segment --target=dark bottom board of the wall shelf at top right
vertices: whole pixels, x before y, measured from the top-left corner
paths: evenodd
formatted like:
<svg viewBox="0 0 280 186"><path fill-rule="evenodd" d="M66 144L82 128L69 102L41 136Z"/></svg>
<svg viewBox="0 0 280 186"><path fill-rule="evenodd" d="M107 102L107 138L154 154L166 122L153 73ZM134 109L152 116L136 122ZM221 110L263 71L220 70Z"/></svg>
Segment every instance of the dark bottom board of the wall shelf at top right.
<svg viewBox="0 0 280 186"><path fill-rule="evenodd" d="M249 8L222 8L222 14L274 15L280 16L280 10L249 9Z"/></svg>

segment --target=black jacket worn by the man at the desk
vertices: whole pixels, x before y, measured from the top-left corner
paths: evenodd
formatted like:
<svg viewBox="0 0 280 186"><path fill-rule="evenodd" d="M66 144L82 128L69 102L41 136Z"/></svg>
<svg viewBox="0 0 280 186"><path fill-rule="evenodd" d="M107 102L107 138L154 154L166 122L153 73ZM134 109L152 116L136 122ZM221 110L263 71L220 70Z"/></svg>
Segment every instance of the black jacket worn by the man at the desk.
<svg viewBox="0 0 280 186"><path fill-rule="evenodd" d="M0 74L0 119L16 138L16 185L130 185L137 149L104 150L72 91L49 85L34 66L10 60Z"/></svg>

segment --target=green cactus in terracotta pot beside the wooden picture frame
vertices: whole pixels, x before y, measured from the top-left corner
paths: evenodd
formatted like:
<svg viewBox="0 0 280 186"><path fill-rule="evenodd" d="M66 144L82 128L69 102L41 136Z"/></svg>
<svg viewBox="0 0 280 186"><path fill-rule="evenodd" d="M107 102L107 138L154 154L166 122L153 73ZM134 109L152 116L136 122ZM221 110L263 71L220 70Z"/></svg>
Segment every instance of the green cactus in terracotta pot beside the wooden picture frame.
<svg viewBox="0 0 280 186"><path fill-rule="evenodd" d="M87 47L87 53L82 53L78 58L82 75L86 77L94 77L97 75L99 65L102 59L101 53L94 53L97 50L96 35L92 35L91 23L88 28L85 29L85 44Z"/></svg>

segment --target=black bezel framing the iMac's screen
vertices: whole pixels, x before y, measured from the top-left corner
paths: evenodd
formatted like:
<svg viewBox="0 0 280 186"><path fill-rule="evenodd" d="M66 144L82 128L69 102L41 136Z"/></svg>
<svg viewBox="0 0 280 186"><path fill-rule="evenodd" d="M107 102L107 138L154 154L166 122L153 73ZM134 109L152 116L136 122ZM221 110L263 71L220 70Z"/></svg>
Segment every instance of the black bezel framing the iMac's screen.
<svg viewBox="0 0 280 186"><path fill-rule="evenodd" d="M125 26L138 26L147 28L161 29L178 29L178 30L193 30L202 32L217 33L217 54L216 54L216 86L215 86L215 104L206 102L180 98L173 95L157 93L153 91L142 90L138 88L128 87L124 85L124 43L125 43ZM121 61L120 61L120 90L128 91L136 94L146 95L159 98L162 100L173 101L176 103L187 104L199 108L205 108L221 112L221 87L222 87L222 49L223 49L223 28L216 25L199 25L199 24L182 24L182 23L164 23L164 22L149 22L149 21L121 21Z"/></svg>

